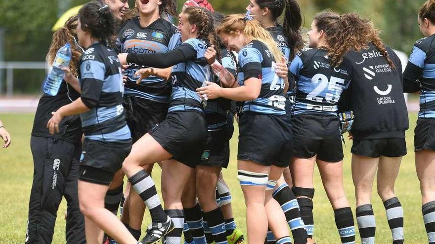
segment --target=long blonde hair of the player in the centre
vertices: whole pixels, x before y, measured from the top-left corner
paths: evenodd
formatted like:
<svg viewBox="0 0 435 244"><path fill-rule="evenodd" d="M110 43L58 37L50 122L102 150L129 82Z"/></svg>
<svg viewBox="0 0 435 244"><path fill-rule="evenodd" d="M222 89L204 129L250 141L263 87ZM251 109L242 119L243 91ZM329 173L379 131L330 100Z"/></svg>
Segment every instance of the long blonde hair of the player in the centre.
<svg viewBox="0 0 435 244"><path fill-rule="evenodd" d="M216 33L225 33L227 35L237 35L237 31L251 40L257 39L267 46L272 53L275 62L281 62L283 56L278 44L273 40L272 35L261 27L258 20L245 19L243 14L231 14L223 18L220 25L216 28Z"/></svg>

